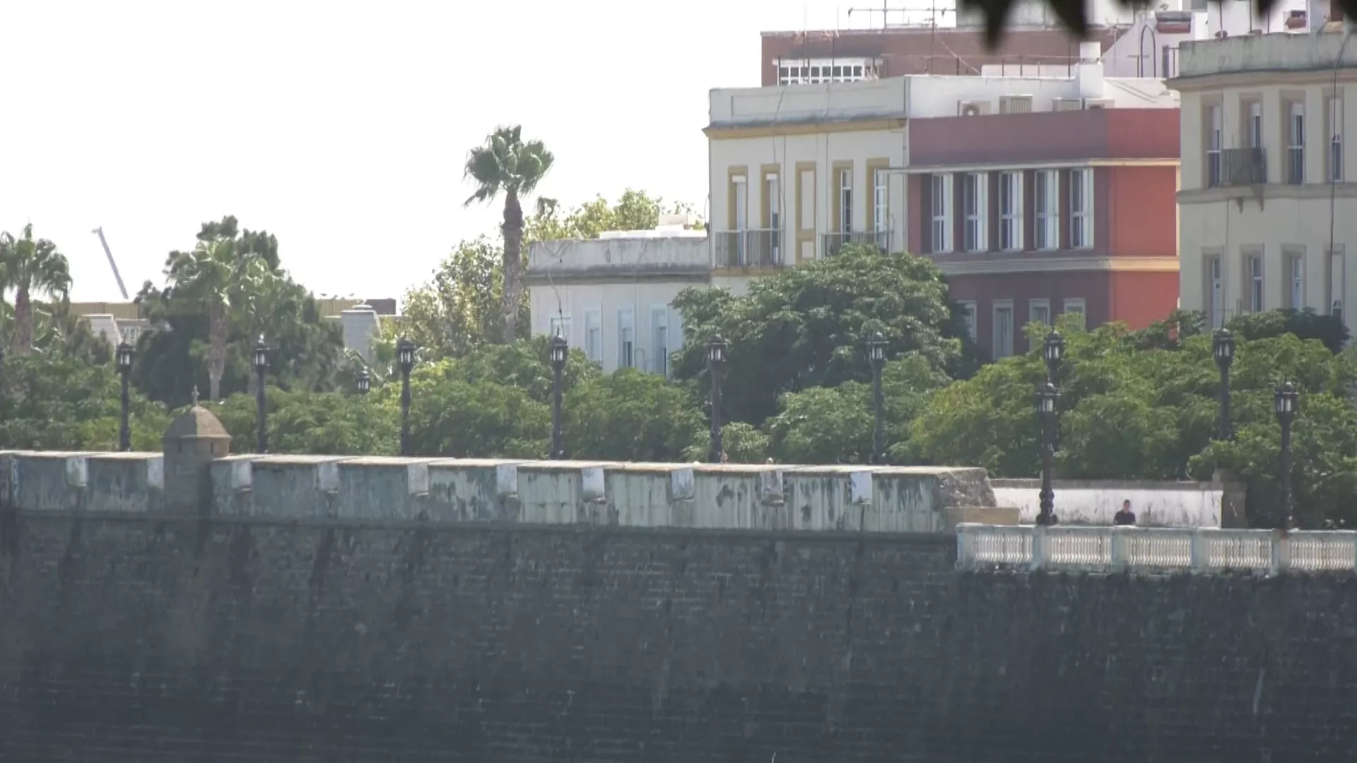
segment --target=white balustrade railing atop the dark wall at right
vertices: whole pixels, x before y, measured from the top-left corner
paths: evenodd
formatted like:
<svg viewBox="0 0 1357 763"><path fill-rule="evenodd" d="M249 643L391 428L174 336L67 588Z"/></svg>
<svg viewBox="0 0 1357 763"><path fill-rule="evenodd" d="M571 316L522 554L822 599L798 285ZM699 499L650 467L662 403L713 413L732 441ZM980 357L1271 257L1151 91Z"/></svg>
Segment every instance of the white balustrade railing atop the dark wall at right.
<svg viewBox="0 0 1357 763"><path fill-rule="evenodd" d="M957 566L1080 572L1357 572L1357 531L957 525Z"/></svg>

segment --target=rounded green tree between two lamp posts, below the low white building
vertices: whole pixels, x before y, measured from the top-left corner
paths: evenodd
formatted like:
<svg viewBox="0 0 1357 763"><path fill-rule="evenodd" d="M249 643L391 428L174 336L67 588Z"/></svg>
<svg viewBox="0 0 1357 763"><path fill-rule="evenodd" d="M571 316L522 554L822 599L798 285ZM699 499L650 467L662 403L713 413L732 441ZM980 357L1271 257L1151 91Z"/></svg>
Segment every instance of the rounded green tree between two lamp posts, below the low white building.
<svg viewBox="0 0 1357 763"><path fill-rule="evenodd" d="M562 409L566 453L577 459L673 462L703 420L687 390L635 368L577 384Z"/></svg>

